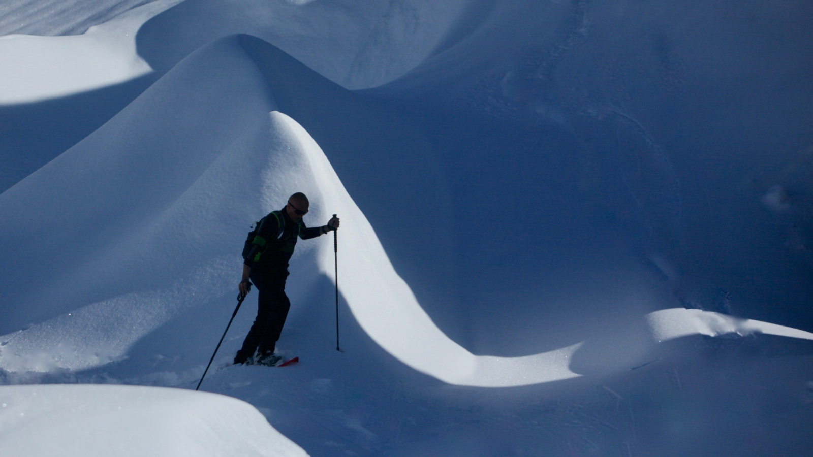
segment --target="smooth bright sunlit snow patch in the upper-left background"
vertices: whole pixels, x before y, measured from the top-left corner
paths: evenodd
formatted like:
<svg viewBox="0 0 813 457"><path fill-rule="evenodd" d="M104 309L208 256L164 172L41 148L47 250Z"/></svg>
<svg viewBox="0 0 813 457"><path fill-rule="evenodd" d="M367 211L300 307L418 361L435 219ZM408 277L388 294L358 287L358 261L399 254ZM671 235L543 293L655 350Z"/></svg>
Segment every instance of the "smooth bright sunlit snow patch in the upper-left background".
<svg viewBox="0 0 813 457"><path fill-rule="evenodd" d="M182 1L147 3L81 35L0 37L0 106L78 94L152 72L136 50L138 29Z"/></svg>

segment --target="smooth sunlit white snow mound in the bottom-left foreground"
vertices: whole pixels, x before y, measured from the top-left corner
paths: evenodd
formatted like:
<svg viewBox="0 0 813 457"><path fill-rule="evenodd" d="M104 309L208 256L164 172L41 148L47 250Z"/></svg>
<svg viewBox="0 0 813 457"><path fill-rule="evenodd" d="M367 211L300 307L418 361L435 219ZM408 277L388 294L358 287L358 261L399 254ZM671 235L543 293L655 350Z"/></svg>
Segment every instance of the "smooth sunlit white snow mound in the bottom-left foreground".
<svg viewBox="0 0 813 457"><path fill-rule="evenodd" d="M0 455L307 455L249 403L125 385L0 387Z"/></svg>

